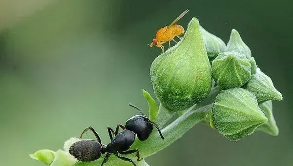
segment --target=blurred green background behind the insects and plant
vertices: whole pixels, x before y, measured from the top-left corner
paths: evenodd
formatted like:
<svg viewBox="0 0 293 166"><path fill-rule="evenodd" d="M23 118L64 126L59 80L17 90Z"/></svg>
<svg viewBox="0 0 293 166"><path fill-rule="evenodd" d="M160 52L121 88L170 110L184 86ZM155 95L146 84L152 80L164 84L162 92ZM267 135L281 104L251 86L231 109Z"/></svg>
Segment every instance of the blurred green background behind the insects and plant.
<svg viewBox="0 0 293 166"><path fill-rule="evenodd" d="M255 132L230 142L206 125L149 157L153 166L292 166L293 22L290 0L1 0L0 163L42 166L28 154L57 150L92 125L103 143L106 127L147 113L142 88L153 94L146 46L173 21L197 17L228 42L236 28L258 66L283 94L273 102L277 137Z"/></svg>

